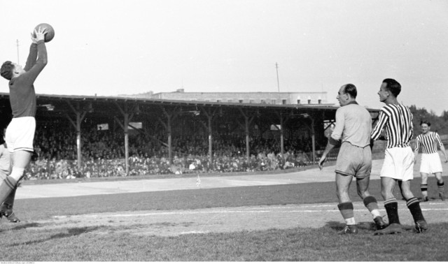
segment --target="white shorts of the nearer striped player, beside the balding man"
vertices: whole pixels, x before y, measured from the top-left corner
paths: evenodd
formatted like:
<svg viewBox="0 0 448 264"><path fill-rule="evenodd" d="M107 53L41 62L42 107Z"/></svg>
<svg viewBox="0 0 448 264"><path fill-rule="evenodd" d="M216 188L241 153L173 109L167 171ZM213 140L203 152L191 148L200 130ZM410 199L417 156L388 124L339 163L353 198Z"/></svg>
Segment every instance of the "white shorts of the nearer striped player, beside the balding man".
<svg viewBox="0 0 448 264"><path fill-rule="evenodd" d="M411 147L386 149L380 177L407 181L414 179L414 152Z"/></svg>

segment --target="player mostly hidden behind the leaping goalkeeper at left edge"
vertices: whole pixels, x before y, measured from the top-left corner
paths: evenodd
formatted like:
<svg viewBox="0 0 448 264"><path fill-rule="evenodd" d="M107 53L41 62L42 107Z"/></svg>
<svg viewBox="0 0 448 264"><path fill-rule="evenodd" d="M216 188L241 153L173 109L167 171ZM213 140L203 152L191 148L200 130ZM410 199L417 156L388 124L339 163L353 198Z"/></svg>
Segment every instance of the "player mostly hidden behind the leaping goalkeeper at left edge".
<svg viewBox="0 0 448 264"><path fill-rule="evenodd" d="M3 129L3 140L5 140L6 129ZM0 180L6 179L6 177L11 173L11 162L10 155L8 152L8 147L6 147L6 142L0 145ZM20 219L15 217L13 212L14 198L15 198L15 189L9 193L9 196L6 198L5 202L0 205L0 218L6 217L10 222L20 222Z"/></svg>

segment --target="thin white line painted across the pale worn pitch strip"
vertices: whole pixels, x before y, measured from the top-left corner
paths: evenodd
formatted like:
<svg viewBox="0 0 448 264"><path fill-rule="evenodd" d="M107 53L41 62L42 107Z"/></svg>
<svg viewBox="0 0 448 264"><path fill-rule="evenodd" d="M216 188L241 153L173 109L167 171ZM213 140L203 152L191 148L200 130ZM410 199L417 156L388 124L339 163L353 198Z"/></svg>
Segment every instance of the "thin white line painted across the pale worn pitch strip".
<svg viewBox="0 0 448 264"><path fill-rule="evenodd" d="M365 211L366 209L355 209L353 211ZM407 208L402 208L399 211L407 211ZM448 208L425 208L422 211L448 211ZM202 212L154 212L145 214L93 214L83 215L82 217L97 218L97 217L149 217L158 215L187 215L187 214L266 214L266 213L307 213L307 212L339 212L339 210L230 210L230 211L202 211ZM53 218L62 219L67 216L55 216Z"/></svg>

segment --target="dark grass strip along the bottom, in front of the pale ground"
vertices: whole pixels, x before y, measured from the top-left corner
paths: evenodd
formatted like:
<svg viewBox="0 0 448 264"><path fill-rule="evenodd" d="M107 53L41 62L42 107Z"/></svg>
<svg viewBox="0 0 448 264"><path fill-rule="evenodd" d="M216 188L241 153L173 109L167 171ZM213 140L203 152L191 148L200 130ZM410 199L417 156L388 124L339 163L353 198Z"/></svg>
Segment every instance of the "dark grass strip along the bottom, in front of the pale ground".
<svg viewBox="0 0 448 264"><path fill-rule="evenodd" d="M32 232L1 232L2 261L447 261L448 223L428 233L335 235L342 225L238 233L136 236L87 226ZM130 226L132 228L132 226ZM411 228L410 226L408 228ZM94 235L102 231L104 235ZM8 239L6 239L8 238Z"/></svg>

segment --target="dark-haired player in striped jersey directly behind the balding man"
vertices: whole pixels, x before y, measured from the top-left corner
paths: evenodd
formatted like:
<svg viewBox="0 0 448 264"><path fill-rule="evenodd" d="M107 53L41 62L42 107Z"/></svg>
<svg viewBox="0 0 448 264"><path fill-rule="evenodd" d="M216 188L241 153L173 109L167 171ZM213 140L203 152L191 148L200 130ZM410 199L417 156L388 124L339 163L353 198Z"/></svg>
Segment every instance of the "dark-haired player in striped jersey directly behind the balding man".
<svg viewBox="0 0 448 264"><path fill-rule="evenodd" d="M402 226L398 218L398 202L393 196L393 189L398 183L402 196L415 222L418 233L428 229L420 203L410 190L414 178L414 152L409 145L412 138L412 113L405 105L398 103L401 85L396 80L385 79L379 88L379 101L385 103L379 111L379 120L372 131L372 140L378 140L381 132L386 131L386 150L381 168L381 195L389 220L388 227L374 232L378 234L401 233Z"/></svg>

